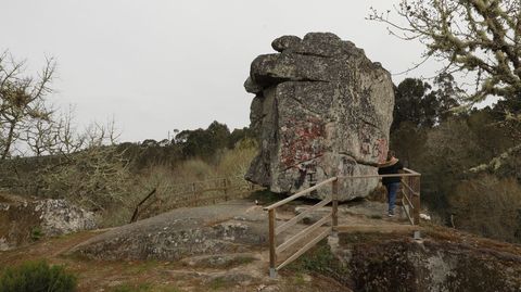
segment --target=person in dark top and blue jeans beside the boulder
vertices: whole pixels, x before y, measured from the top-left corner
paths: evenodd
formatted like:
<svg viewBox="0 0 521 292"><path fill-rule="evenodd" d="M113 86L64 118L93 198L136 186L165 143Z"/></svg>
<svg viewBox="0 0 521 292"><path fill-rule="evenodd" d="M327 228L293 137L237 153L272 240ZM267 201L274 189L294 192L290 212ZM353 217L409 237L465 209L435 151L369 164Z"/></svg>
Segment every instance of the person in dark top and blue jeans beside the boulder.
<svg viewBox="0 0 521 292"><path fill-rule="evenodd" d="M395 157L395 152L390 150L387 152L387 160L386 162L378 165L378 174L379 175L396 175L399 170L404 169L404 165L402 162ZM387 190L387 204L389 211L387 216L394 216L394 206L396 201L396 193L399 189L399 182L402 181L401 177L383 177L382 185Z"/></svg>

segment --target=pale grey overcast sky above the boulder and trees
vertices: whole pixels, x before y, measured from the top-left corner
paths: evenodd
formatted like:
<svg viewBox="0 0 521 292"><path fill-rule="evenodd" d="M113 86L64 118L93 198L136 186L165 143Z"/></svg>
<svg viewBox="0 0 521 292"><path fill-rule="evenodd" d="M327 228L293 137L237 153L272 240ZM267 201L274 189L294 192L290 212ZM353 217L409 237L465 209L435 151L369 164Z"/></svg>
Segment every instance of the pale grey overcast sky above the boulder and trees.
<svg viewBox="0 0 521 292"><path fill-rule="evenodd" d="M243 82L282 35L331 31L392 73L422 47L366 21L397 0L2 0L0 50L41 68L58 60L51 101L75 106L79 125L115 117L122 141L164 139L173 129L250 124ZM431 76L427 64L408 76ZM393 76L395 82L407 76Z"/></svg>

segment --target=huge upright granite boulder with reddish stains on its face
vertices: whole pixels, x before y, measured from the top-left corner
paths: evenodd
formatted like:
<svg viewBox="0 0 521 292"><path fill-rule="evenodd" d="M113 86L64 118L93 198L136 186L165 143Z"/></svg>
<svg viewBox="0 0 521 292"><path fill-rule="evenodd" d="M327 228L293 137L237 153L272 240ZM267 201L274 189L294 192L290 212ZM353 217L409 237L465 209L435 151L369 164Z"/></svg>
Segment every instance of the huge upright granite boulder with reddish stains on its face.
<svg viewBox="0 0 521 292"><path fill-rule="evenodd" d="M260 143L246 179L284 193L334 175L377 174L394 106L389 72L333 34L283 36L271 47L279 53L257 56L244 84L256 94L250 118ZM377 183L342 180L341 200L365 196Z"/></svg>

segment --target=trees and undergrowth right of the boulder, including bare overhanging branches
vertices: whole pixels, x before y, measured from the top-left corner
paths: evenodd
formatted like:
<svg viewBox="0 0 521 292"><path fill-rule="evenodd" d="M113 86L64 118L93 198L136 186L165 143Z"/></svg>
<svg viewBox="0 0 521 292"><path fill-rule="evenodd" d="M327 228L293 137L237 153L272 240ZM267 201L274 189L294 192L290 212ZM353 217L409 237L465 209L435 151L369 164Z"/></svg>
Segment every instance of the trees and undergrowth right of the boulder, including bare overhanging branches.
<svg viewBox="0 0 521 292"><path fill-rule="evenodd" d="M437 114L435 123L425 116L436 112L427 111L431 106L425 105L433 100L425 94L430 86L411 78L398 86L395 110L401 114L395 113L392 145L410 167L424 174L423 201L450 217L450 225L518 242L514 233L520 223L512 219L518 211L510 212L508 234L505 228L494 227L501 215L495 207L497 201L517 200L521 182L520 12L517 0L402 0L394 11L372 9L368 17L387 25L398 38L423 45L424 59L418 66L436 59L443 64L440 76L458 74L466 82L474 80L466 90L445 86L447 97L459 102L460 106L452 107L460 114ZM446 85L452 84L448 81ZM495 106L469 110L493 96L499 98ZM443 103L443 94L435 99ZM401 107L403 104L408 111ZM509 180L512 177L518 181ZM470 191L481 192L463 195ZM461 210L463 204L472 205L472 211ZM510 204L516 206L517 202Z"/></svg>

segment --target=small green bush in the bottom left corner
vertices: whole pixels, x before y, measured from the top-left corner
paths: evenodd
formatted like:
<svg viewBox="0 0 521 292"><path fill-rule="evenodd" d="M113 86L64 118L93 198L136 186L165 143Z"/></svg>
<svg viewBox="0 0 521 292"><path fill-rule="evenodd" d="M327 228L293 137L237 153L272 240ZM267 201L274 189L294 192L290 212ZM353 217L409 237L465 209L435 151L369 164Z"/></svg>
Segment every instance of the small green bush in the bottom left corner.
<svg viewBox="0 0 521 292"><path fill-rule="evenodd" d="M50 266L45 261L26 262L3 271L0 292L68 292L76 291L76 281L62 266Z"/></svg>

